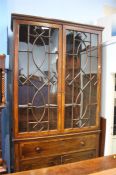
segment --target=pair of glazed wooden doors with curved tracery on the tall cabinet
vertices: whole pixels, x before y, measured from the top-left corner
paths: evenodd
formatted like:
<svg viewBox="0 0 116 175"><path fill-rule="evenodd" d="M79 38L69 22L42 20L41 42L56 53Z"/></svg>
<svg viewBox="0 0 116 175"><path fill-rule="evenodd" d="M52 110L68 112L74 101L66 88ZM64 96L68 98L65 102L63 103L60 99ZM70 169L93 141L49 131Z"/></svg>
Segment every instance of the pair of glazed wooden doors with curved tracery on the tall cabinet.
<svg viewBox="0 0 116 175"><path fill-rule="evenodd" d="M15 136L98 125L98 33L14 22Z"/></svg>

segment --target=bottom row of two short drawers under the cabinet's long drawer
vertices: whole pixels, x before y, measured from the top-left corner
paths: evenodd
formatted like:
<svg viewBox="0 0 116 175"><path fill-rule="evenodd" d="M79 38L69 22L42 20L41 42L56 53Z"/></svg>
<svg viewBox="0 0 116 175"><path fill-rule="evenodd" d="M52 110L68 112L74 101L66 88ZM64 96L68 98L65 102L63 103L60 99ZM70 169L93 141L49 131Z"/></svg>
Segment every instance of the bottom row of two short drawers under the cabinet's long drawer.
<svg viewBox="0 0 116 175"><path fill-rule="evenodd" d="M64 155L41 157L30 160L22 160L20 162L20 170L30 170L42 167L50 167L54 165L61 165L71 162L76 162L80 160L86 160L96 157L96 150L74 152ZM39 162L39 163L38 163ZM44 162L44 164L43 164Z"/></svg>

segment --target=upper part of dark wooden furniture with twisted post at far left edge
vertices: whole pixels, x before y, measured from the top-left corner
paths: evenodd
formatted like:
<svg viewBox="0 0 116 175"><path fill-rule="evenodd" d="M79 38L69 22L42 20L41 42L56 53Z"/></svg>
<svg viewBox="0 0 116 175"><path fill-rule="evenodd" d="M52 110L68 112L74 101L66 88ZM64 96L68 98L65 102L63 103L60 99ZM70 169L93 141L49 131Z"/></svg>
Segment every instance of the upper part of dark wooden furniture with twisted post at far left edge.
<svg viewBox="0 0 116 175"><path fill-rule="evenodd" d="M5 55L0 55L0 109L5 105Z"/></svg>

